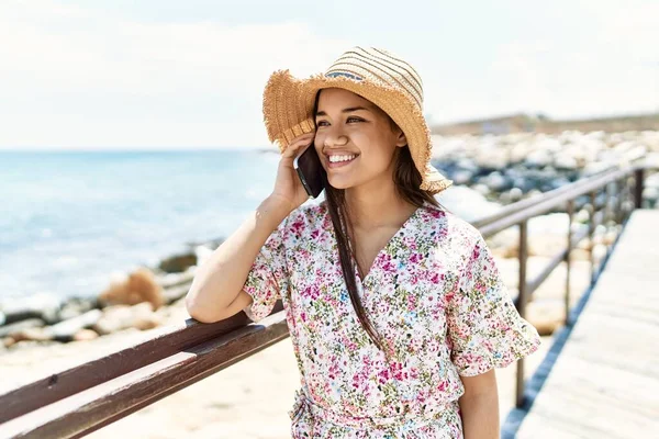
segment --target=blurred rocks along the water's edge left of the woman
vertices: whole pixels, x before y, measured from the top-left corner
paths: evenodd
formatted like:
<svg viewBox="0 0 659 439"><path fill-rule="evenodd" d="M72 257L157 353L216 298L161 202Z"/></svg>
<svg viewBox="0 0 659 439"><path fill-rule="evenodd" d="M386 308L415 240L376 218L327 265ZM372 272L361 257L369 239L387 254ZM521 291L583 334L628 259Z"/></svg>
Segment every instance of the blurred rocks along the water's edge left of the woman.
<svg viewBox="0 0 659 439"><path fill-rule="evenodd" d="M91 340L126 329L169 323L171 307L186 295L194 269L222 240L191 245L157 267L142 267L110 281L97 296L34 295L0 304L0 349ZM180 306L179 306L180 307Z"/></svg>

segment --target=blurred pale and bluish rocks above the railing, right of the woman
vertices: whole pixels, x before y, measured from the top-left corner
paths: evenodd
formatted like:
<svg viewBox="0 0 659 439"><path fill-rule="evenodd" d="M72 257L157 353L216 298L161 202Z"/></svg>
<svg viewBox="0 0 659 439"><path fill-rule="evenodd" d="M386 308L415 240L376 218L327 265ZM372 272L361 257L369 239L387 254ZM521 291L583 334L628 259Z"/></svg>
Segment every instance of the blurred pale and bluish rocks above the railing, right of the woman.
<svg viewBox="0 0 659 439"><path fill-rule="evenodd" d="M659 155L659 132L433 136L433 165L455 184L509 204ZM657 206L659 178L646 181L644 198Z"/></svg>

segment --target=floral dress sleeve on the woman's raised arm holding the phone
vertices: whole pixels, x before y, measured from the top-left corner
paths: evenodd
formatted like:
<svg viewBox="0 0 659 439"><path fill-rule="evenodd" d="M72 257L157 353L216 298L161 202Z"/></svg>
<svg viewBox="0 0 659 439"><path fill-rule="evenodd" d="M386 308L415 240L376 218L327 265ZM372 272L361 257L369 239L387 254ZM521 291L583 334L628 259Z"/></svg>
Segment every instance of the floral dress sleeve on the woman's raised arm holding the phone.
<svg viewBox="0 0 659 439"><path fill-rule="evenodd" d="M288 290L289 273L282 237L284 224L286 221L268 237L243 286L253 300L252 305L243 311L253 322L267 317Z"/></svg>

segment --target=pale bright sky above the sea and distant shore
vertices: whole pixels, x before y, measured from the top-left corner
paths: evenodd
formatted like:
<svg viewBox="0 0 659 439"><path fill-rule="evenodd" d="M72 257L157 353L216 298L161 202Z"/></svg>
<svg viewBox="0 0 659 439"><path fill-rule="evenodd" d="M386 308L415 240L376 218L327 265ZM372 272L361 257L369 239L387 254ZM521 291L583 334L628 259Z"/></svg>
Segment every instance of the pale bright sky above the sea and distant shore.
<svg viewBox="0 0 659 439"><path fill-rule="evenodd" d="M659 111L659 0L0 0L0 149L264 147L263 89L410 61L431 124Z"/></svg>

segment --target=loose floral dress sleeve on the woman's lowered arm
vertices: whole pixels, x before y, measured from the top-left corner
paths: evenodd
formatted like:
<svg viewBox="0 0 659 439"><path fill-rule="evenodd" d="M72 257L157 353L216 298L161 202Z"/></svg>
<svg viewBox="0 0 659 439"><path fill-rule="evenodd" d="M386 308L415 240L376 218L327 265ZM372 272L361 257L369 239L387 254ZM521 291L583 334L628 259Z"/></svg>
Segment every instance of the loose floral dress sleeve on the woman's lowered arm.
<svg viewBox="0 0 659 439"><path fill-rule="evenodd" d="M540 345L536 328L523 319L484 239L477 237L448 301L451 360L462 376L504 368Z"/></svg>

